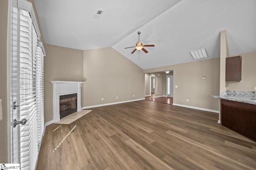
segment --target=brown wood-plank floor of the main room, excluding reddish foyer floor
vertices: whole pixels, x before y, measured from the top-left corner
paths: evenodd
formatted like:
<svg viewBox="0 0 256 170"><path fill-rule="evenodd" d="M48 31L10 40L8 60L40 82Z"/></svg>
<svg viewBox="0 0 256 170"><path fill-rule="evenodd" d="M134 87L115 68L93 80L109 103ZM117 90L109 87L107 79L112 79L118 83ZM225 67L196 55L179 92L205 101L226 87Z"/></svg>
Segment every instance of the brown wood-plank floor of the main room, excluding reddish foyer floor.
<svg viewBox="0 0 256 170"><path fill-rule="evenodd" d="M218 114L147 100L46 127L37 170L255 169L256 142Z"/></svg>

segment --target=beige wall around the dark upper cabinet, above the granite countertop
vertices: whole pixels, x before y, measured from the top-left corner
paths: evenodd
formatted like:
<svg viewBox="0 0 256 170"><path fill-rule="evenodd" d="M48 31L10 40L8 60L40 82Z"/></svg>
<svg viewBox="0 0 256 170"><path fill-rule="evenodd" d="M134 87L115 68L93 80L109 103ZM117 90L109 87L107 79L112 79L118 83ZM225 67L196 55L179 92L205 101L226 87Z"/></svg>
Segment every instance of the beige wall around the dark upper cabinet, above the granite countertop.
<svg viewBox="0 0 256 170"><path fill-rule="evenodd" d="M230 91L254 91L256 87L256 51L242 53L234 56L242 56L242 80L240 82L228 82Z"/></svg>

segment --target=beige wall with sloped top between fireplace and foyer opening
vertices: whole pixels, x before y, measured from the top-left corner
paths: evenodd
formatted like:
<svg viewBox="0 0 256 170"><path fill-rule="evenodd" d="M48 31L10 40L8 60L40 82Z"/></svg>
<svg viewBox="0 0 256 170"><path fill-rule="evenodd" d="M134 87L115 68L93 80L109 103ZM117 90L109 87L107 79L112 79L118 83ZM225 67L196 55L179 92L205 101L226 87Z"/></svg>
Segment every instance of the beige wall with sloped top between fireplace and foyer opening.
<svg viewBox="0 0 256 170"><path fill-rule="evenodd" d="M143 70L112 47L84 51L84 79L82 107L145 97Z"/></svg>

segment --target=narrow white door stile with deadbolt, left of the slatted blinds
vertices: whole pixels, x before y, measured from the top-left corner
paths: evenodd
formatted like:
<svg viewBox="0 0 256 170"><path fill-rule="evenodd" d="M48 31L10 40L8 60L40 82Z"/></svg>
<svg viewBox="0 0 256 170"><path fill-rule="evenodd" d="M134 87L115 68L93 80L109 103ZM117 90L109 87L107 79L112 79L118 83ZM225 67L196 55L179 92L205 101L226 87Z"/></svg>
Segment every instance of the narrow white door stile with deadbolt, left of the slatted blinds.
<svg viewBox="0 0 256 170"><path fill-rule="evenodd" d="M18 16L18 8L11 8L11 15ZM14 127L14 120L20 120L20 107L19 107L19 94L20 94L20 74L19 74L19 63L17 49L19 45L19 33L18 30L18 18L12 17L11 23L11 45L10 45L10 159L12 163L20 163L20 126Z"/></svg>

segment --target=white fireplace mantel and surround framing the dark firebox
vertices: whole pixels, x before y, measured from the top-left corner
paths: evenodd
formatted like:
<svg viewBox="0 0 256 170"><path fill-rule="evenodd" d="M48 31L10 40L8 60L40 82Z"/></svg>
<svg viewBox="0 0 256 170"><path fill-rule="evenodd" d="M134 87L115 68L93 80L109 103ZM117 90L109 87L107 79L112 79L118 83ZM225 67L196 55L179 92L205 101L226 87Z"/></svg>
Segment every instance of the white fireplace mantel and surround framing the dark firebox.
<svg viewBox="0 0 256 170"><path fill-rule="evenodd" d="M77 111L81 111L81 81L51 81L53 84L53 121L60 121L60 96L77 93Z"/></svg>

